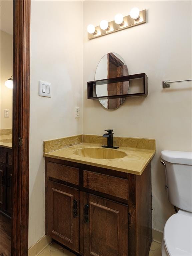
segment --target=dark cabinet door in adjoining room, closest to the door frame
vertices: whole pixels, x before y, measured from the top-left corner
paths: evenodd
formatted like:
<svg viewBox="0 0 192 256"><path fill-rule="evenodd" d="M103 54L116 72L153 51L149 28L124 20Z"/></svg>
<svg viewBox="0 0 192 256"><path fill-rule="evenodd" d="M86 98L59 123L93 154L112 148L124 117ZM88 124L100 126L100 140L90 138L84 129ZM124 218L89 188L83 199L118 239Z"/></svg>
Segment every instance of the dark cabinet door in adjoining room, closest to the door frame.
<svg viewBox="0 0 192 256"><path fill-rule="evenodd" d="M12 213L12 169L7 168L7 179L6 179L6 190L7 190L7 198L6 198L6 211L9 216L11 216Z"/></svg>

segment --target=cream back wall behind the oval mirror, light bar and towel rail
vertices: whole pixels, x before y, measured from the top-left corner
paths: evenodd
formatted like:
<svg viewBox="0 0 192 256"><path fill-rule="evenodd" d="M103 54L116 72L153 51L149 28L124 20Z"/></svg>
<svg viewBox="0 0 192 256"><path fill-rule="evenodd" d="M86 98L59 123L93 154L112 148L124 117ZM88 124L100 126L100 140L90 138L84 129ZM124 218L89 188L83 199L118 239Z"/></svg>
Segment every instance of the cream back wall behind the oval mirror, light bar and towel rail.
<svg viewBox="0 0 192 256"><path fill-rule="evenodd" d="M88 40L88 24L111 21L116 13L128 15L132 7L147 9L147 23ZM191 83L162 89L162 80L188 79L191 66L191 2L185 1L85 1L83 53L83 133L156 139L152 160L153 227L163 231L174 213L165 192L160 164L163 149L192 151ZM87 99L86 82L94 80L100 59L108 52L120 54L129 74L146 73L147 97L127 98L117 110L106 110L97 100ZM143 195L145 196L145 195Z"/></svg>

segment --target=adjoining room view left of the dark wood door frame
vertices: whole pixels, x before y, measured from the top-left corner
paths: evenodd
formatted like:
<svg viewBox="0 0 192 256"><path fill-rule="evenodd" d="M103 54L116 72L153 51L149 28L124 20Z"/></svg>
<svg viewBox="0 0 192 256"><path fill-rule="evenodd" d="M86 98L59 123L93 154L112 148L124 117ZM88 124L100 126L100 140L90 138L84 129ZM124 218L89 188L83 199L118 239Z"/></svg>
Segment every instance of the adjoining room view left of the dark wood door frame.
<svg viewBox="0 0 192 256"><path fill-rule="evenodd" d="M1 0L1 238L3 256L11 256L13 1Z"/></svg>

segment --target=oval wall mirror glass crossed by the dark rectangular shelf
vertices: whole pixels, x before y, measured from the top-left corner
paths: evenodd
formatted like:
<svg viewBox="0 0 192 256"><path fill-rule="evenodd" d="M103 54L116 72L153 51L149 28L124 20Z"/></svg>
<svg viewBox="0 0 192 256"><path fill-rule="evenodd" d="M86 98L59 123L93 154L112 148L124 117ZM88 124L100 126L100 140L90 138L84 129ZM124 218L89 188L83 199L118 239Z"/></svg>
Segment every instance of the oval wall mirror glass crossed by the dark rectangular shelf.
<svg viewBox="0 0 192 256"><path fill-rule="evenodd" d="M100 60L96 73L95 80L114 78L129 75L127 65L123 58L117 53L108 53ZM96 95L99 96L112 96L127 94L129 89L129 82L119 82L113 84L102 84L96 86ZM116 109L121 106L125 98L117 99L99 99L103 107L107 109Z"/></svg>

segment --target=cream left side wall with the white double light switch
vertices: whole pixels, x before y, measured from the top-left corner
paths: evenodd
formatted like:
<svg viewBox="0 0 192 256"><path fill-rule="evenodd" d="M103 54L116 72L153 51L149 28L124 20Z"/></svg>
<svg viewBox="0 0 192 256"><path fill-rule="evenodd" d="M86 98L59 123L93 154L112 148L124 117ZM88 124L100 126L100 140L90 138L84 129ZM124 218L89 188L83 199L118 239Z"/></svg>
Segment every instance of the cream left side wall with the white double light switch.
<svg viewBox="0 0 192 256"><path fill-rule="evenodd" d="M45 234L43 141L82 133L82 7L31 2L29 247ZM38 80L51 83L51 98L38 96Z"/></svg>

